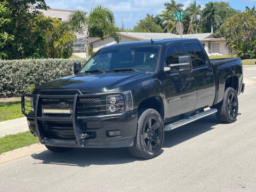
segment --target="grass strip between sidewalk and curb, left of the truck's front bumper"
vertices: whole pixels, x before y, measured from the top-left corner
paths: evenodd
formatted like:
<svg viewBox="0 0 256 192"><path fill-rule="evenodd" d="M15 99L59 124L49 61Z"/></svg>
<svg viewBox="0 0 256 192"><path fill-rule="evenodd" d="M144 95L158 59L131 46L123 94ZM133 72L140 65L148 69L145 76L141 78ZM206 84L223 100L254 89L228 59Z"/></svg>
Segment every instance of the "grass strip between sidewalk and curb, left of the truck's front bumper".
<svg viewBox="0 0 256 192"><path fill-rule="evenodd" d="M0 154L13 149L29 146L34 143L39 143L39 140L37 137L34 137L30 131L6 135L5 137L0 138Z"/></svg>

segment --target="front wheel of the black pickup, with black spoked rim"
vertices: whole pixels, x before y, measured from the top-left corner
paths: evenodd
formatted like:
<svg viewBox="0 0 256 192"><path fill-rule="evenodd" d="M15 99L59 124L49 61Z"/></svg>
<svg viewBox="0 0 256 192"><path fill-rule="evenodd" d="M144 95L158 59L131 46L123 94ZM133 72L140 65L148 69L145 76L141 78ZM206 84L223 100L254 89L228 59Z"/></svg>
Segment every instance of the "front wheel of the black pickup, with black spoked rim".
<svg viewBox="0 0 256 192"><path fill-rule="evenodd" d="M155 109L143 111L138 119L137 134L133 146L129 147L132 156L150 159L158 156L164 143L162 117Z"/></svg>

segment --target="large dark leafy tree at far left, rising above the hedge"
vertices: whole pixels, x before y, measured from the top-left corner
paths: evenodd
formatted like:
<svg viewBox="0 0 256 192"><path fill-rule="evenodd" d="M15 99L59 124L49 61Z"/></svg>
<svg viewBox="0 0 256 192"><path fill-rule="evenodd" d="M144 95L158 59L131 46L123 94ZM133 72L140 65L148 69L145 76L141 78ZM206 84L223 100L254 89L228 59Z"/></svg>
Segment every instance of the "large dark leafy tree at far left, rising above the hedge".
<svg viewBox="0 0 256 192"><path fill-rule="evenodd" d="M31 8L32 6L34 8ZM37 10L48 8L45 1L6 0L1 1L1 7L2 10L7 10L4 17L8 18L8 21L1 26L1 31L5 32L5 37L6 34L10 37L0 47L2 59L45 57L47 25L42 20L38 20L39 11Z"/></svg>

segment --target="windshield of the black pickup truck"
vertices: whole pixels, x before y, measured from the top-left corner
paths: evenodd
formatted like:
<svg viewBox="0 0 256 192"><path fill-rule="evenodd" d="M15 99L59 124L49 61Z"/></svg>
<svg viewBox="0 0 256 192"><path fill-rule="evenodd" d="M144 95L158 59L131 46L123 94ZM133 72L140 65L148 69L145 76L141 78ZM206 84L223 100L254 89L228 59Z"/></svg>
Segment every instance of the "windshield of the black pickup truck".
<svg viewBox="0 0 256 192"><path fill-rule="evenodd" d="M138 71L154 72L157 66L158 52L159 46L102 49L86 63L80 73L90 70L113 71L115 69L129 68Z"/></svg>

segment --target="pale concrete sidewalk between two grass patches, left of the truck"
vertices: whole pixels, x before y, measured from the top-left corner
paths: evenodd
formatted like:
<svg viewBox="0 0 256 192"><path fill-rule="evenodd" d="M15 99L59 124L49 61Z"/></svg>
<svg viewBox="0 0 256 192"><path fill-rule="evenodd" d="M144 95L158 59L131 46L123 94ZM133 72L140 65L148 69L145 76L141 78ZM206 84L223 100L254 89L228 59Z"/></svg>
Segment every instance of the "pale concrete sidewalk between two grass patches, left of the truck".
<svg viewBox="0 0 256 192"><path fill-rule="evenodd" d="M26 131L29 131L26 117L0 122L0 138Z"/></svg>

